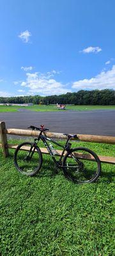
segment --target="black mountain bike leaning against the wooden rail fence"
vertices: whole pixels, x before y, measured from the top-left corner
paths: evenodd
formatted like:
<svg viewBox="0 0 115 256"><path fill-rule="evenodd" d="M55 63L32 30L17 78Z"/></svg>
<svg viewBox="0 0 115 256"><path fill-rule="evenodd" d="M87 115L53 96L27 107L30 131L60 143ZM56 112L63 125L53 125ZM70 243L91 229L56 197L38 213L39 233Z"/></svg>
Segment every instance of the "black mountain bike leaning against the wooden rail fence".
<svg viewBox="0 0 115 256"><path fill-rule="evenodd" d="M84 147L71 148L72 143L69 140L77 138L77 134L64 134L67 136L67 140L65 146L63 146L43 134L43 132L49 131L49 129L45 129L44 125L41 125L40 128L31 125L28 128L33 131L40 131L40 134L38 138L34 139L33 143L24 142L16 148L14 163L20 173L33 176L40 171L43 157L37 144L38 141L42 140L56 164L56 168L62 168L65 177L79 184L95 182L98 179L101 172L101 163L95 152ZM47 141L63 148L62 153L56 152ZM58 161L55 156L60 156Z"/></svg>

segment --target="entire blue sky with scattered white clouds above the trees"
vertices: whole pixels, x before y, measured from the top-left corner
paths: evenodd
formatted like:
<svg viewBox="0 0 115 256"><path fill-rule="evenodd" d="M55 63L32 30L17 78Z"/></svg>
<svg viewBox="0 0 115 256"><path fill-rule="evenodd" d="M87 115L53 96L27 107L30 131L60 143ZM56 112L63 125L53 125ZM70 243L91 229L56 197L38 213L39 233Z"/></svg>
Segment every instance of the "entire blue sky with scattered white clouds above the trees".
<svg viewBox="0 0 115 256"><path fill-rule="evenodd" d="M114 0L0 0L0 96L115 88Z"/></svg>

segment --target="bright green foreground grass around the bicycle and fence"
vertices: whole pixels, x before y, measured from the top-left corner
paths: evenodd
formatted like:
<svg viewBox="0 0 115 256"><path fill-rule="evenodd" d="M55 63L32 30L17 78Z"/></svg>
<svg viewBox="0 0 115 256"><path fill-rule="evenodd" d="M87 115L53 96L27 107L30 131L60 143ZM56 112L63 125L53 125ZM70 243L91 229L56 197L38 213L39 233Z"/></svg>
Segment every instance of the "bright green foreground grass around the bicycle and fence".
<svg viewBox="0 0 115 256"><path fill-rule="evenodd" d="M113 145L76 145L114 156ZM54 172L49 156L38 175L25 177L15 170L13 154L4 159L0 152L1 255L114 255L114 165L102 164L95 184L76 185Z"/></svg>

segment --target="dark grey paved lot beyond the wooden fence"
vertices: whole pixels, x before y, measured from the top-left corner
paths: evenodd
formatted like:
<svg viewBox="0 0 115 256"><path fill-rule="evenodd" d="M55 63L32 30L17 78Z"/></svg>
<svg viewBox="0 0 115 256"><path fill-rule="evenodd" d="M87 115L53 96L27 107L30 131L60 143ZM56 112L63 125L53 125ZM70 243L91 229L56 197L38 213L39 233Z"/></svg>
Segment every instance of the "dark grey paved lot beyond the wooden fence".
<svg viewBox="0 0 115 256"><path fill-rule="evenodd" d="M115 110L0 113L7 128L45 124L51 132L115 136Z"/></svg>

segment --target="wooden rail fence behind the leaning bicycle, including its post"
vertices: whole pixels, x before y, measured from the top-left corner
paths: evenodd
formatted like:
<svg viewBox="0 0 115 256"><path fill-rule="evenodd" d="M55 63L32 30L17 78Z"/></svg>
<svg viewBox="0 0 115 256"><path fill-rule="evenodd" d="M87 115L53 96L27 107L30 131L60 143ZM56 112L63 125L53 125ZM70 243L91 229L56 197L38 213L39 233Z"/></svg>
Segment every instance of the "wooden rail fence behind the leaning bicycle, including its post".
<svg viewBox="0 0 115 256"><path fill-rule="evenodd" d="M18 136L38 136L39 131L30 131L30 130L22 130L22 129L6 129L5 122L0 122L0 135L1 135L1 144L0 147L3 150L4 157L9 155L9 148L15 149L18 145L16 144L8 144L7 134L18 135ZM67 137L62 133L56 132L45 132L45 135L49 138L66 140ZM115 137L112 136L96 136L96 135L88 135L88 134L77 134L77 138L72 138L74 141L85 141L92 143L108 143L115 144ZM40 148L43 154L49 154L47 148ZM26 149L27 150L27 149ZM61 150L56 150L58 155L61 155ZM107 156L98 156L102 163L115 164L115 157L107 157Z"/></svg>

